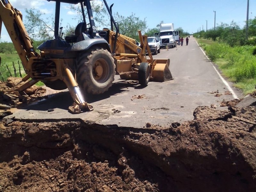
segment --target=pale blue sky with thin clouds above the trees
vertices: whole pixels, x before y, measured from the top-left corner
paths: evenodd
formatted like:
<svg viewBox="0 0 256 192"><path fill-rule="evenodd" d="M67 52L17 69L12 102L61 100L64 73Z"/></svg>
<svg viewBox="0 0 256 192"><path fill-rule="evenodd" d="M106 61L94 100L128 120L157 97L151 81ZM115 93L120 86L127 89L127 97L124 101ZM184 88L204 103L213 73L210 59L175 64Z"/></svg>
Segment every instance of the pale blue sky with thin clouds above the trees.
<svg viewBox="0 0 256 192"><path fill-rule="evenodd" d="M9 0L13 7L20 10L25 18L25 8L38 9L49 16L54 13L55 2L46 0ZM95 0L99 3L101 0ZM181 27L185 32L196 32L214 27L214 12L216 11L216 26L221 22L230 24L235 21L240 27L245 25L247 0L107 0L110 6L114 3L113 12L123 16L130 16L135 13L141 20L147 21L148 28L155 28L160 21L174 23L174 28ZM65 22L74 23L74 15L67 7L68 4L61 4L61 17ZM250 0L249 19L256 16L256 1ZM66 26L63 24L63 27ZM2 28L1 42L11 41L4 25Z"/></svg>

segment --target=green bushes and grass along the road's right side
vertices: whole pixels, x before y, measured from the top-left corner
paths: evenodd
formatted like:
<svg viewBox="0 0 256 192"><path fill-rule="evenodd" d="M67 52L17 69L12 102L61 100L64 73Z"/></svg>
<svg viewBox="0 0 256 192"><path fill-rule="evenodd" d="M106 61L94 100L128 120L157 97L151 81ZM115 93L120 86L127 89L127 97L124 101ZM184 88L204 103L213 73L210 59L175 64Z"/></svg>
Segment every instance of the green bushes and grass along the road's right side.
<svg viewBox="0 0 256 192"><path fill-rule="evenodd" d="M256 17L249 21L249 38L245 28L235 22L221 23L215 30L193 34L207 56L218 65L222 74L234 82L244 94L255 91L256 86Z"/></svg>

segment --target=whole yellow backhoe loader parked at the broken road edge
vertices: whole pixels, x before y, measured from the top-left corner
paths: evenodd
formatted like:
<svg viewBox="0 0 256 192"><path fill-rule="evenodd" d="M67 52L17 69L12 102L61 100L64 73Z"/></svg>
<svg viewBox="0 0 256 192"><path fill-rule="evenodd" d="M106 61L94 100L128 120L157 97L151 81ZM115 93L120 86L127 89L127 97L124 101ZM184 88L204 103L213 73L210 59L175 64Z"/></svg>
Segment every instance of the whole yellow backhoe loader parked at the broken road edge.
<svg viewBox="0 0 256 192"><path fill-rule="evenodd" d="M0 0L0 36L4 23L27 74L22 78L26 83L17 84L15 91L23 92L38 81L55 90L68 88L80 112L93 110L92 105L84 100L84 95L106 92L115 74L124 79L138 80L142 85L147 85L150 79L159 82L172 79L170 60L153 60L147 36L142 36L139 31L141 44L137 46L134 39L119 34L118 24L111 13L113 4L109 9L106 0L103 0L110 15L111 30L99 31L95 28L91 0L47 1L56 2L55 39L39 45L40 53L37 53L22 22L21 12L12 7L9 0ZM65 40L59 31L62 29L59 26L60 3L81 4L83 13L83 22L76 26L75 34L66 36ZM146 48L150 59L146 58Z"/></svg>

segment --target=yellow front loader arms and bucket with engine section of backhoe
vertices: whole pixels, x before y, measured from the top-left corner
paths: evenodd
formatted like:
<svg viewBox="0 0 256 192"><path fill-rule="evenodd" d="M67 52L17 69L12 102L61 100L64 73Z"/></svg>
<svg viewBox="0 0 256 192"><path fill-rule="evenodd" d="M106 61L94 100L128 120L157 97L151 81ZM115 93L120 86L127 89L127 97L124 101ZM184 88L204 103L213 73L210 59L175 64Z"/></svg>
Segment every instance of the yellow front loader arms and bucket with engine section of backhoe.
<svg viewBox="0 0 256 192"><path fill-rule="evenodd" d="M111 50L114 47L114 39L116 33L109 31L109 44ZM116 74L123 79L138 79L138 69L140 63L147 62L150 68L150 80L156 82L164 82L172 79L169 69L169 59L153 59L147 42L147 36L142 36L139 31L140 46L130 37L119 34L116 42L116 50L114 53ZM145 50L148 50L149 59L146 57Z"/></svg>

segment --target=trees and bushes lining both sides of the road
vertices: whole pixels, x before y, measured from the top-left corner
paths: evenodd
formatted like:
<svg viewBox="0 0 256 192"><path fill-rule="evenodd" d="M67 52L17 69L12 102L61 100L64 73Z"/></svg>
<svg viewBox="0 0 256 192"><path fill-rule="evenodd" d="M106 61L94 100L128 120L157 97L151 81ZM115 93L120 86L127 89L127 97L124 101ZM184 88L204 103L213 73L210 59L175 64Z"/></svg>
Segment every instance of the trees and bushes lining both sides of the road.
<svg viewBox="0 0 256 192"><path fill-rule="evenodd" d="M70 5L69 9L77 14L74 16L77 24L83 21L81 10L74 5ZM85 9L86 10L86 9ZM25 28L28 34L34 41L34 47L36 48L39 44L45 40L54 39L54 16L51 15L45 19L45 13L42 13L35 9L26 9L26 18L24 21ZM94 4L92 2L92 12L94 15L95 23L98 26L104 26L108 21L108 13L104 8L103 4ZM85 12L85 16L87 13ZM159 32L160 24L164 21L160 21L155 28L148 28L146 18L140 19L135 13L130 16L122 16L119 12L114 13L114 19L118 23L119 32L122 35L129 36L139 41L138 30L141 30L142 34L147 36L154 36L154 33ZM88 20L88 18L87 18ZM60 20L60 26L62 26L63 20ZM256 44L256 17L249 20L249 39L245 39L245 27L241 29L234 21L230 25L221 23L217 28L210 29L208 31L200 31L195 33L195 37L203 37L206 39L212 39L213 41L220 41L228 43L230 46L245 45L245 44ZM76 25L72 26L69 23L66 27L63 26L64 37L73 35ZM188 32L179 27L176 28L179 31L180 36L188 36ZM12 43L2 42L0 43L0 53L12 53L14 52L14 46Z"/></svg>

